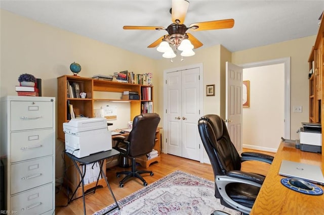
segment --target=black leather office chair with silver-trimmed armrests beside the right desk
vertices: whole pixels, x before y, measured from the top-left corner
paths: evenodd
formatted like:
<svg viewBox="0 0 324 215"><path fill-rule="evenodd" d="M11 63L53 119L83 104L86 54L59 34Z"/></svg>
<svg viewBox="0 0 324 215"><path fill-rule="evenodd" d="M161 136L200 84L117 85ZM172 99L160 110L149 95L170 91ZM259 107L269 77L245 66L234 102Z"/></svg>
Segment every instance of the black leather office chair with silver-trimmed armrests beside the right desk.
<svg viewBox="0 0 324 215"><path fill-rule="evenodd" d="M265 176L241 171L241 163L258 160L272 163L273 156L237 153L225 122L217 115L205 115L198 121L198 130L209 156L215 177L215 197L221 204L249 214Z"/></svg>

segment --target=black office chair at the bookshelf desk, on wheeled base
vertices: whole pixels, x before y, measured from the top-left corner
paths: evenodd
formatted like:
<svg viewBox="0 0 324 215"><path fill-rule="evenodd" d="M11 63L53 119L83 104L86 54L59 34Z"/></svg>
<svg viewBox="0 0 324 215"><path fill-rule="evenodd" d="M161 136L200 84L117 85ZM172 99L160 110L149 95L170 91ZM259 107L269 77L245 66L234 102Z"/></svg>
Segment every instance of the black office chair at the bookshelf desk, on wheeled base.
<svg viewBox="0 0 324 215"><path fill-rule="evenodd" d="M147 183L140 174L149 173L150 176L154 174L152 171L137 170L136 169L136 157L141 157L152 151L155 143L155 132L157 125L160 122L158 114L141 114L134 118L133 129L129 133L128 140L124 136L116 136L113 140L117 140L114 149L118 150L122 156L131 159L131 171L124 171L116 173L119 178L120 175L126 175L123 180L119 182L119 187L124 187L124 183L131 177L139 178L143 185Z"/></svg>

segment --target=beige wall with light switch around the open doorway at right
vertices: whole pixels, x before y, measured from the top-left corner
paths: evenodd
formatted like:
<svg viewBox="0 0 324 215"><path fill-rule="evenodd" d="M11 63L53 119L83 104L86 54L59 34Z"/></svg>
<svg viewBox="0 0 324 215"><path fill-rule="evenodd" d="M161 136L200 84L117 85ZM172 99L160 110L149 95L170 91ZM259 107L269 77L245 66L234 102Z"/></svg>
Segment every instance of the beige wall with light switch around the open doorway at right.
<svg viewBox="0 0 324 215"><path fill-rule="evenodd" d="M232 53L236 65L291 57L291 139L299 139L296 131L301 122L308 122L307 61L315 39L314 35ZM294 105L302 105L303 113L292 112Z"/></svg>

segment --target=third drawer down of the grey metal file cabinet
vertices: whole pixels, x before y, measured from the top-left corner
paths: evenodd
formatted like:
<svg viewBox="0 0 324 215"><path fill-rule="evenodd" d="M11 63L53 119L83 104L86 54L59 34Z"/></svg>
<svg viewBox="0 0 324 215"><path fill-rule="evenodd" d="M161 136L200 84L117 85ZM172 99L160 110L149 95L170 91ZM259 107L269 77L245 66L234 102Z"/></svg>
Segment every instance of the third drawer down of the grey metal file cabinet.
<svg viewBox="0 0 324 215"><path fill-rule="evenodd" d="M53 182L53 156L11 165L11 193Z"/></svg>

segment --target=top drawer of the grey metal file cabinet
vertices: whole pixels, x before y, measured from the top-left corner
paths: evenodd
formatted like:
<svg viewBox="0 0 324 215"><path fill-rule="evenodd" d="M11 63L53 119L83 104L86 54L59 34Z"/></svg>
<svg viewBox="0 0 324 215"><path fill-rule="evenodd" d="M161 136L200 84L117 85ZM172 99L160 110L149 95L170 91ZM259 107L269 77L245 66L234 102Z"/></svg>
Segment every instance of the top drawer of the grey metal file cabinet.
<svg viewBox="0 0 324 215"><path fill-rule="evenodd" d="M10 105L11 131L53 128L53 102L11 101Z"/></svg>

